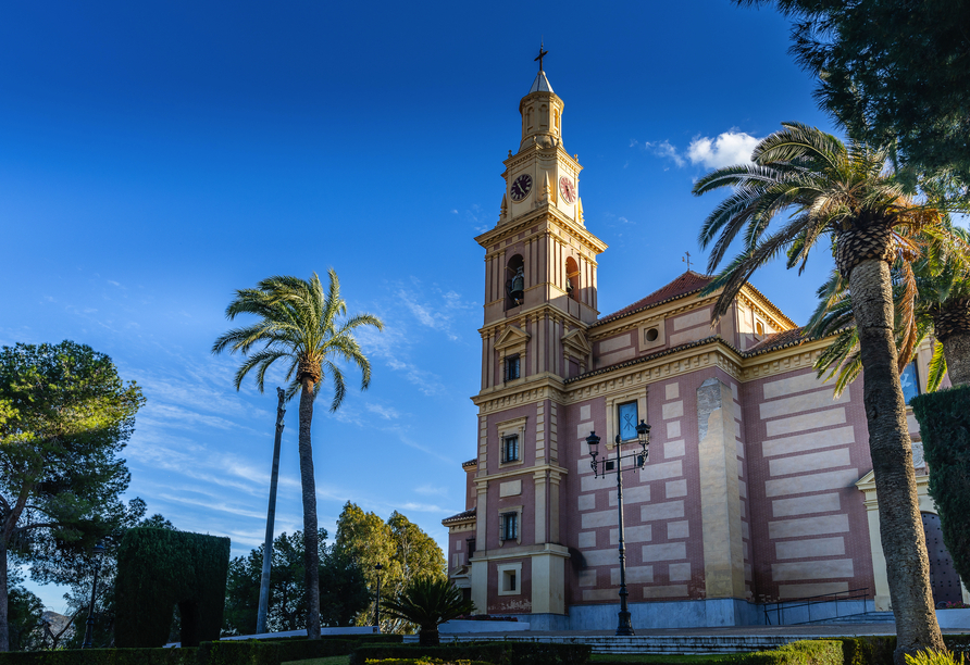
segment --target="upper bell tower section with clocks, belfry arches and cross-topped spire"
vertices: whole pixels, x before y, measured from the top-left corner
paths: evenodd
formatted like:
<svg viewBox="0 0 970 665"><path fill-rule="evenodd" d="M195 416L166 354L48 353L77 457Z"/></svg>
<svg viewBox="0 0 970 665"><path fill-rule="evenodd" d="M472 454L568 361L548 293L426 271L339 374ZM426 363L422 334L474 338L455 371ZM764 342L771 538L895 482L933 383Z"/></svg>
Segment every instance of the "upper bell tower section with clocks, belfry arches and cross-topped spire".
<svg viewBox="0 0 970 665"><path fill-rule="evenodd" d="M519 149L502 162L505 193L485 249L482 391L592 369L586 327L596 321L596 259L586 230L579 155L562 140L562 99L543 67L519 102Z"/></svg>

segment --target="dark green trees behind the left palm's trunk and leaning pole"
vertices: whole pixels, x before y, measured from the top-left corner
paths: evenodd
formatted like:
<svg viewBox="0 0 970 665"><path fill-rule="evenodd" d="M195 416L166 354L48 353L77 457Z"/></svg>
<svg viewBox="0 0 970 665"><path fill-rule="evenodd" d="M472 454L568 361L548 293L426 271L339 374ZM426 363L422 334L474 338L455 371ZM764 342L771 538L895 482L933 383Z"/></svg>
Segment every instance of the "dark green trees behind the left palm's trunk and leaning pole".
<svg viewBox="0 0 970 665"><path fill-rule="evenodd" d="M327 547L326 538L326 530L320 529L320 622L323 626L350 626L370 604L371 595L360 566L334 547ZM262 545L229 563L224 628L227 635L256 631L262 564ZM281 534L273 541L266 629L279 632L306 628L304 595L303 534Z"/></svg>

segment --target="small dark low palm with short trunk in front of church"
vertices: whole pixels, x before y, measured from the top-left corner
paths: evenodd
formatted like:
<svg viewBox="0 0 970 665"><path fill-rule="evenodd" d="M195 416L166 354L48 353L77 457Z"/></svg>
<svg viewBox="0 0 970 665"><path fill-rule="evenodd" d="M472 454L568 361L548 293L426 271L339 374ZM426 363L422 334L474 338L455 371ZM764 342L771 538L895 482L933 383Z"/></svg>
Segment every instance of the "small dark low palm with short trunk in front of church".
<svg viewBox="0 0 970 665"><path fill-rule="evenodd" d="M475 611L472 601L464 600L451 580L442 577L412 579L397 598L383 601L381 606L386 614L415 624L422 647L440 642L440 624Z"/></svg>

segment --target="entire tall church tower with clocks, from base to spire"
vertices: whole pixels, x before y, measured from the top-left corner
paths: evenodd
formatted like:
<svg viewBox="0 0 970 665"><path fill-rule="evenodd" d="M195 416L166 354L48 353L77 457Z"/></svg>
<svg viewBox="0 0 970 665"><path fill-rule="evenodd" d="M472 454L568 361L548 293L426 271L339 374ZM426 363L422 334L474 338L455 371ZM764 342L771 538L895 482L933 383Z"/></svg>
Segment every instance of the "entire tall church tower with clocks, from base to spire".
<svg viewBox="0 0 970 665"><path fill-rule="evenodd" d="M542 55L545 55L543 52ZM565 620L565 379L593 369L586 329L597 321L596 258L606 244L586 230L579 158L562 142L564 103L539 71L519 103L518 151L485 249L485 321L477 456L470 474L475 515L449 528L468 536L462 582L478 612L527 612L538 626ZM544 617L544 618L540 618Z"/></svg>

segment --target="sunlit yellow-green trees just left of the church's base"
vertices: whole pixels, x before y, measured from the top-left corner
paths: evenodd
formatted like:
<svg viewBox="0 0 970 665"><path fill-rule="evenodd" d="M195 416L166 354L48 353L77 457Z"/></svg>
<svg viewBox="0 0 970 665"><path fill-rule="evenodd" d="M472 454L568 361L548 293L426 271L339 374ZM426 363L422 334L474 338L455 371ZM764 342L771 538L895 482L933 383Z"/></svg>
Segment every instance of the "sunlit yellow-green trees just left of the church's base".
<svg viewBox="0 0 970 665"><path fill-rule="evenodd" d="M376 601L377 578L382 598L394 598L412 579L447 579L445 554L421 527L395 511L387 522L347 502L337 518L335 549L357 562ZM377 570L380 564L383 569ZM373 620L373 604L358 614L356 624ZM410 632L412 626L400 617L382 617L384 632Z"/></svg>

